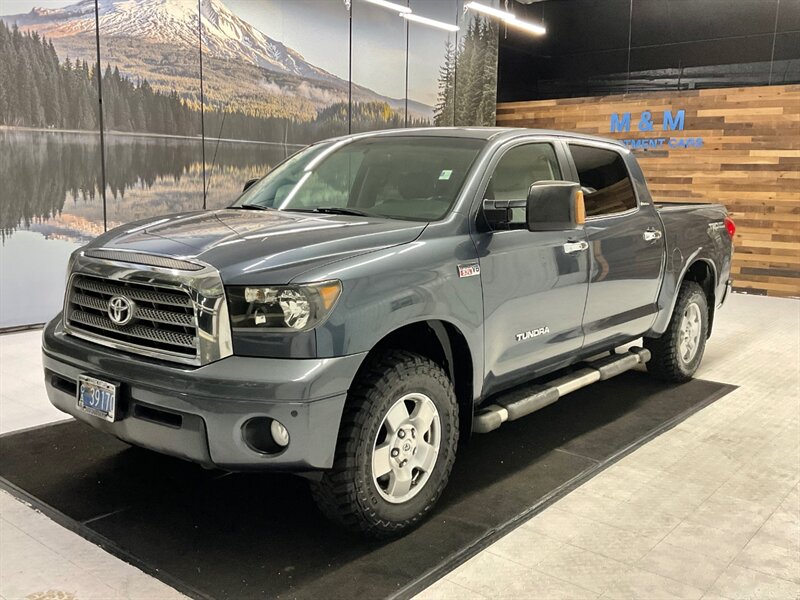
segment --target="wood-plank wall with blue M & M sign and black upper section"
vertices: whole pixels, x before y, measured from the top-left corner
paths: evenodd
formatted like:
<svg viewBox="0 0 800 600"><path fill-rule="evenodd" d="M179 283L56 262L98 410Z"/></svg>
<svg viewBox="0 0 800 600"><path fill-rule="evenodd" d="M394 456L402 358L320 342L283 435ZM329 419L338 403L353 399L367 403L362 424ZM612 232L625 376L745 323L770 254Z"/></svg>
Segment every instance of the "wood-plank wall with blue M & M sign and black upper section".
<svg viewBox="0 0 800 600"><path fill-rule="evenodd" d="M800 0L549 0L501 32L497 122L637 153L656 201L721 202L733 285L800 296Z"/></svg>

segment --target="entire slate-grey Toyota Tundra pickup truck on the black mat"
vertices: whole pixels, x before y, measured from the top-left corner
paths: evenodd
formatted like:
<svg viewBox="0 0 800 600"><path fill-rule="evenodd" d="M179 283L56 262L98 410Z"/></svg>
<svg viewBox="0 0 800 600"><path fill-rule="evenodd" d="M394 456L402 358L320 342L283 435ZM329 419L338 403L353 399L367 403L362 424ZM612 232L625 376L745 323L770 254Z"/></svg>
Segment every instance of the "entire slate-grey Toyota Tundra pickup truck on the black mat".
<svg viewBox="0 0 800 600"><path fill-rule="evenodd" d="M228 208L77 250L43 335L47 392L133 445L302 475L338 523L397 534L431 512L459 436L643 363L691 378L734 229L717 204L654 204L601 138L323 141Z"/></svg>

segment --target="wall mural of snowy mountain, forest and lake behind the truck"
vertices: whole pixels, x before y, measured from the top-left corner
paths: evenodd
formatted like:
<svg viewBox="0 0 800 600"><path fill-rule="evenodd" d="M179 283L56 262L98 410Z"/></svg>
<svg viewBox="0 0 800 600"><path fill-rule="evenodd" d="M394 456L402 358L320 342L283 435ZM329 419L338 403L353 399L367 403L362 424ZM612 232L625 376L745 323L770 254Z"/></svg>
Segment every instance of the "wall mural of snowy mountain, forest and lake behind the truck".
<svg viewBox="0 0 800 600"><path fill-rule="evenodd" d="M399 2L460 31L364 0L0 1L0 328L53 316L105 229L226 206L308 143L493 124L496 25Z"/></svg>

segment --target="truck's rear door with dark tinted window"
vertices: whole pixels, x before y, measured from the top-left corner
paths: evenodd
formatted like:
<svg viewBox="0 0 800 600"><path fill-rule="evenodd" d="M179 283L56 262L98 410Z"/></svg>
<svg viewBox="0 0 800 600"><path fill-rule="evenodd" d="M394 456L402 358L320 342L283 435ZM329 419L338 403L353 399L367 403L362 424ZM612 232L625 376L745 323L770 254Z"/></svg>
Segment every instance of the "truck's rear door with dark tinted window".
<svg viewBox="0 0 800 600"><path fill-rule="evenodd" d="M652 205L639 203L621 151L570 143L575 180L586 204L590 249L584 345L624 343L647 331L657 312L664 236Z"/></svg>

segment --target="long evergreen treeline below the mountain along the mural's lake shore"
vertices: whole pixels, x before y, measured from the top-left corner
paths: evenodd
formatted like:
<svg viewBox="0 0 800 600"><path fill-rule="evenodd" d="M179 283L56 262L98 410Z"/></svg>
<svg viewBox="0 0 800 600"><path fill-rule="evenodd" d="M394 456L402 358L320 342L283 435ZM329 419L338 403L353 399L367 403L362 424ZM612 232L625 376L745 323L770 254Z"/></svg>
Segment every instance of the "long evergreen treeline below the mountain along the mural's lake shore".
<svg viewBox="0 0 800 600"><path fill-rule="evenodd" d="M59 60L53 43L0 20L0 125L91 131L99 128L97 73L86 61ZM106 65L101 78L106 131L200 136L199 102L154 90ZM206 137L306 144L348 132L348 105L333 104L303 120L215 110L202 115ZM353 131L430 125L385 102L354 102Z"/></svg>

